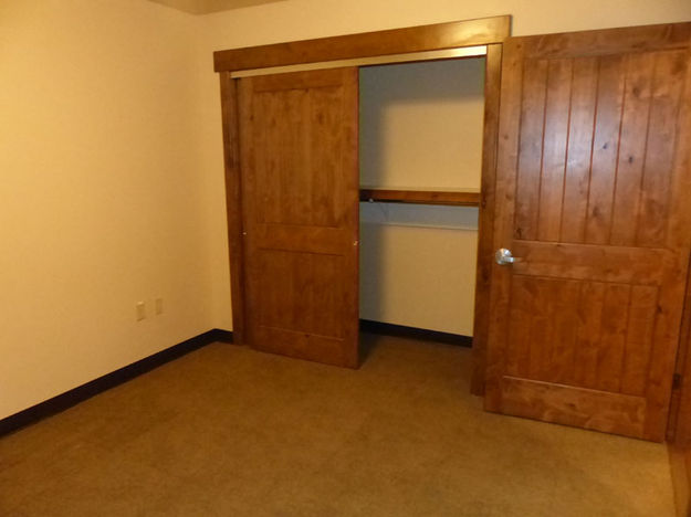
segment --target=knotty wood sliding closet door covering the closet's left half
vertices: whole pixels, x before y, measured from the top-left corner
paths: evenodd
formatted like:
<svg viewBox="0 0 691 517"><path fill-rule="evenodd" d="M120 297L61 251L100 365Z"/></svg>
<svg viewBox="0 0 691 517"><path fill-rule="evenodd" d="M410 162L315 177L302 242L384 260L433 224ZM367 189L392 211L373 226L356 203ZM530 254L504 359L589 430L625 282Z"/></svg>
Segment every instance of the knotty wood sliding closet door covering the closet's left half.
<svg viewBox="0 0 691 517"><path fill-rule="evenodd" d="M240 80L247 340L357 367L357 68Z"/></svg>

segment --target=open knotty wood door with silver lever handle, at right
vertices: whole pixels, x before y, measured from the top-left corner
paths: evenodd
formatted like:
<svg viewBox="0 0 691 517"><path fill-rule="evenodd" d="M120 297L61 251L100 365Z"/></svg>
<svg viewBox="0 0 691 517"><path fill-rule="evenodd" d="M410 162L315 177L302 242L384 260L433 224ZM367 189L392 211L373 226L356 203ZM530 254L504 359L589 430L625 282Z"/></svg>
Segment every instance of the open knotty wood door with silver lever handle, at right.
<svg viewBox="0 0 691 517"><path fill-rule="evenodd" d="M691 230L691 24L504 46L485 409L661 441Z"/></svg>

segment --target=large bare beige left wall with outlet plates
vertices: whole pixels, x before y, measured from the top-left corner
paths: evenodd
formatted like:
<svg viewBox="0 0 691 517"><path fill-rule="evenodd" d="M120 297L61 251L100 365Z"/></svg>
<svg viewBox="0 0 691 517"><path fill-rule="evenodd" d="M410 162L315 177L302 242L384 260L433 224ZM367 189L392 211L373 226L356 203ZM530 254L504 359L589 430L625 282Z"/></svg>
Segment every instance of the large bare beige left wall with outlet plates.
<svg viewBox="0 0 691 517"><path fill-rule="evenodd" d="M0 418L214 326L199 22L0 2Z"/></svg>

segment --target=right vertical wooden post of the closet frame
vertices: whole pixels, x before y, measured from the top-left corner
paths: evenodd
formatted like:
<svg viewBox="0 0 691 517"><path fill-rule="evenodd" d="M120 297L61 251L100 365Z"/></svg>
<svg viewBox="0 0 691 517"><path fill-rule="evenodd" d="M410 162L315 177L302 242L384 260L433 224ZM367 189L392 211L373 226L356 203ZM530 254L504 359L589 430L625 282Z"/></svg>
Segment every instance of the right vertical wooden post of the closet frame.
<svg viewBox="0 0 691 517"><path fill-rule="evenodd" d="M499 138L499 101L502 72L502 45L488 45L484 71L484 126L482 134L481 200L478 217L478 268L475 273L475 313L473 320L473 365L470 391L484 393L486 342L490 327L490 288L494 262L494 183Z"/></svg>

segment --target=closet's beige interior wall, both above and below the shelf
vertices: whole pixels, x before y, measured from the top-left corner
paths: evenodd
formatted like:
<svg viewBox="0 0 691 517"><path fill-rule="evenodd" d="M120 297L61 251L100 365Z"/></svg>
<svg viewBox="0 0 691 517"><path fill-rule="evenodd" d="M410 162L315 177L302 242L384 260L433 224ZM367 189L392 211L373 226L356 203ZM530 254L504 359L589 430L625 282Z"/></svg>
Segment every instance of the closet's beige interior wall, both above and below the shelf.
<svg viewBox="0 0 691 517"><path fill-rule="evenodd" d="M360 68L360 184L479 189L484 57ZM360 203L360 317L472 336L478 209Z"/></svg>

